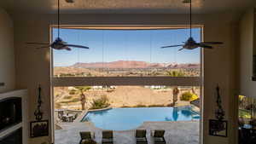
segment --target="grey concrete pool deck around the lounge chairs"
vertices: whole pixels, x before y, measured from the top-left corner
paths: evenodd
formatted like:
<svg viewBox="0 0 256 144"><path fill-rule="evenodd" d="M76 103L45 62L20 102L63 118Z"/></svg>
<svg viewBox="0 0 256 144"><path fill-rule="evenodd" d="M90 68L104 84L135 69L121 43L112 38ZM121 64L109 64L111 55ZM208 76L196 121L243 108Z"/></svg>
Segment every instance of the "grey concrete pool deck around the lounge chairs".
<svg viewBox="0 0 256 144"><path fill-rule="evenodd" d="M102 130L90 122L59 124L62 130L55 130L55 144L79 144L80 131L95 133L96 142L102 142ZM154 142L150 130L166 130L167 144L199 144L199 121L144 122L136 129L147 130L148 144ZM114 144L135 144L135 130L113 131Z"/></svg>

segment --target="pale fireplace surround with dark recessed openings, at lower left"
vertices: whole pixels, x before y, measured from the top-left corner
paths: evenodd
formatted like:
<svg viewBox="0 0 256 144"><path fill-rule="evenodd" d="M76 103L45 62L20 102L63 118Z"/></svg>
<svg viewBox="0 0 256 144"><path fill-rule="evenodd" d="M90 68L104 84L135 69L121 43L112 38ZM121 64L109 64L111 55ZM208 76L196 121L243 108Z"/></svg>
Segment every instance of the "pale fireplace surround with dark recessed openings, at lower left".
<svg viewBox="0 0 256 144"><path fill-rule="evenodd" d="M0 144L27 144L27 91L0 94Z"/></svg>

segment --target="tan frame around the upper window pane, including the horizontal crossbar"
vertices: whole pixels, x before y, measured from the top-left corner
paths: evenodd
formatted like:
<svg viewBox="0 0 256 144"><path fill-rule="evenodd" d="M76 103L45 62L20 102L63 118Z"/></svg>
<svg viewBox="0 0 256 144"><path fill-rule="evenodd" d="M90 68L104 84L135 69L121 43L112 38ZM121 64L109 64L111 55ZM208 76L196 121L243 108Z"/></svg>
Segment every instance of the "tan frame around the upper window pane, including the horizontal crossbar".
<svg viewBox="0 0 256 144"><path fill-rule="evenodd" d="M49 27L50 42L52 42L52 32L56 25ZM203 26L193 25L194 28L201 28L201 37ZM61 28L67 29L87 29L87 30L160 30L160 29L183 29L189 28L184 25L61 25ZM202 39L202 38L201 38ZM168 86L202 86L202 50L201 56L201 75L199 77L63 77L56 78L53 74L53 50L51 49L51 86L83 86L83 85L168 85Z"/></svg>

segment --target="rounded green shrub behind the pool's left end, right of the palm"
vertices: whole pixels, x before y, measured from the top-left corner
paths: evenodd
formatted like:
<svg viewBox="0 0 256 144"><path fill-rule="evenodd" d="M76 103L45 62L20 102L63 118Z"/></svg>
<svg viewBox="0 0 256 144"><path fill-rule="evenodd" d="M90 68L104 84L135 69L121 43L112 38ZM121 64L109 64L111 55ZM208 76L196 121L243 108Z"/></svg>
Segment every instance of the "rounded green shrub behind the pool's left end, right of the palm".
<svg viewBox="0 0 256 144"><path fill-rule="evenodd" d="M101 109L109 107L110 104L108 103L108 97L107 95L102 95L100 98L95 99L91 102L90 109Z"/></svg>

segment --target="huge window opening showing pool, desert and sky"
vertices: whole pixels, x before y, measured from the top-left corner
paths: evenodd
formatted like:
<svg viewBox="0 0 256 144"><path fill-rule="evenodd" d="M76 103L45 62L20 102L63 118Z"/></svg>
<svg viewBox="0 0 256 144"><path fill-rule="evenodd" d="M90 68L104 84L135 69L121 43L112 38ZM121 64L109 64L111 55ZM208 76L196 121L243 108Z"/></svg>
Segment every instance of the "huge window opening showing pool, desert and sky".
<svg viewBox="0 0 256 144"><path fill-rule="evenodd" d="M192 31L200 42L201 26ZM51 32L55 40L57 29ZM166 130L167 143L200 143L201 49L160 49L188 37L181 26L61 27L65 42L90 49L52 51L55 143L78 143L80 131L98 130L134 143L136 129ZM193 136L183 139L187 135Z"/></svg>

